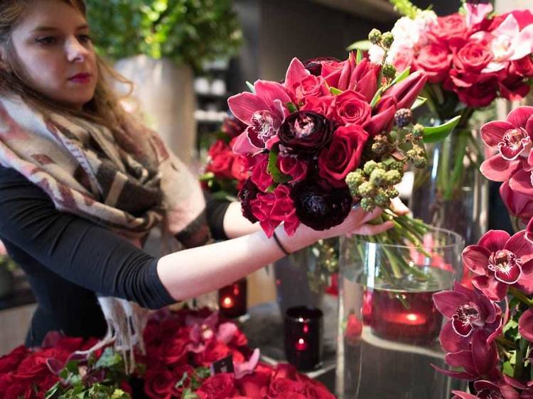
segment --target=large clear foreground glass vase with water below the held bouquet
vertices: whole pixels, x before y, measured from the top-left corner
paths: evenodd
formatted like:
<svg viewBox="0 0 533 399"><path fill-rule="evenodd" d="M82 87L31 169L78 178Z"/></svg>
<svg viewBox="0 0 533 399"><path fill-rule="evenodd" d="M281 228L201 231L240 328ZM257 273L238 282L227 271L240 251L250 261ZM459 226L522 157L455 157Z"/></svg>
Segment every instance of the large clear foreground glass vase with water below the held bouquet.
<svg viewBox="0 0 533 399"><path fill-rule="evenodd" d="M463 246L444 229L430 229L419 249L341 239L338 398L446 399L461 388L431 364L445 366L432 295L461 279Z"/></svg>

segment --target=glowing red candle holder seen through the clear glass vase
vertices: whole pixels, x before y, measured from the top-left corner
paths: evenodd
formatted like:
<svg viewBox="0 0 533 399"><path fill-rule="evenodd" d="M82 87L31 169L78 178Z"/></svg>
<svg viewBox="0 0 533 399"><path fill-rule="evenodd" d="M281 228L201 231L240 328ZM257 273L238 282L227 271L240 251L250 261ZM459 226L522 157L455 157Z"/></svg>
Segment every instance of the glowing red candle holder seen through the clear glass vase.
<svg viewBox="0 0 533 399"><path fill-rule="evenodd" d="M442 315L436 310L433 294L373 290L372 332L378 337L409 344L435 341L441 332ZM398 295L402 295L402 300Z"/></svg>

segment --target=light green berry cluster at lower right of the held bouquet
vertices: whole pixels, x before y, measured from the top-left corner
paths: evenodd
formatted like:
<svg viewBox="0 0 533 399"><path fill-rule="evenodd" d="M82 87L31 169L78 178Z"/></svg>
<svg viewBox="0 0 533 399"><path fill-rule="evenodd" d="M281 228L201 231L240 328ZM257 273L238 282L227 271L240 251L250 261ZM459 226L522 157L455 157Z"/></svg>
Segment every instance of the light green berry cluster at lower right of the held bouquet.
<svg viewBox="0 0 533 399"><path fill-rule="evenodd" d="M376 162L369 160L362 169L346 176L352 197L361 199L361 207L370 212L375 207L385 208L398 196L394 188L404 175L404 164L396 160Z"/></svg>

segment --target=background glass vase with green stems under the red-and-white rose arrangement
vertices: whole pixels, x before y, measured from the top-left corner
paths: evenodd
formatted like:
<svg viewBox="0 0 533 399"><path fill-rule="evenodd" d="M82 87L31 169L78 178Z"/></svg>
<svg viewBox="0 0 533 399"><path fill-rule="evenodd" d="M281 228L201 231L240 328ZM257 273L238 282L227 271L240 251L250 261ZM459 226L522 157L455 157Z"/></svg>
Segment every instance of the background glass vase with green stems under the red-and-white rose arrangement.
<svg viewBox="0 0 533 399"><path fill-rule="evenodd" d="M427 168L416 170L409 208L414 217L477 244L488 226L488 180L480 173L482 144L467 126L426 146Z"/></svg>

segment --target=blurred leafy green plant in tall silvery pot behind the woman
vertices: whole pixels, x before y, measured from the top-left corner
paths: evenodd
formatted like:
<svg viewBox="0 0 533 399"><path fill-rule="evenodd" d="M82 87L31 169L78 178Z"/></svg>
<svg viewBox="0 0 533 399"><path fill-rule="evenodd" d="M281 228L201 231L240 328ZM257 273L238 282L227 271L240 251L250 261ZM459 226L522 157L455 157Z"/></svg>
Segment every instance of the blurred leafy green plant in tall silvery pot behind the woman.
<svg viewBox="0 0 533 399"><path fill-rule="evenodd" d="M90 0L97 50L136 84L146 122L185 163L195 143L193 75L242 40L232 0Z"/></svg>

